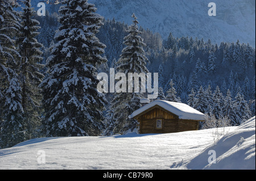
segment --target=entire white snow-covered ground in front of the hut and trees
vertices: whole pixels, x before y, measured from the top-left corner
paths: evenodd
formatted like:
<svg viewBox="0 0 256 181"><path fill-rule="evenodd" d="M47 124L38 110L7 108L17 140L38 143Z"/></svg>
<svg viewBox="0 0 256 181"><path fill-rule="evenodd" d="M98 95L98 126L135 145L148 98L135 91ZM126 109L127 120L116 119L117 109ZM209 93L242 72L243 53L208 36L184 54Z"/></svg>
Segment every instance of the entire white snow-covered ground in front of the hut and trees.
<svg viewBox="0 0 256 181"><path fill-rule="evenodd" d="M0 169L255 170L255 117L240 127L171 134L36 138L0 150Z"/></svg>

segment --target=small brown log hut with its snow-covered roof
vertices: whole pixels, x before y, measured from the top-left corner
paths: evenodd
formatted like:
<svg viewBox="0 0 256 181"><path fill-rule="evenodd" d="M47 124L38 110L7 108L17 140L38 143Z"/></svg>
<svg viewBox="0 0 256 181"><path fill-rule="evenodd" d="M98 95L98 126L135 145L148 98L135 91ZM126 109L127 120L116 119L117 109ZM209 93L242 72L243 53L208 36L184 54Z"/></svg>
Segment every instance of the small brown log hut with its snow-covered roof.
<svg viewBox="0 0 256 181"><path fill-rule="evenodd" d="M134 111L129 118L138 120L139 133L195 131L205 115L183 103L155 100Z"/></svg>

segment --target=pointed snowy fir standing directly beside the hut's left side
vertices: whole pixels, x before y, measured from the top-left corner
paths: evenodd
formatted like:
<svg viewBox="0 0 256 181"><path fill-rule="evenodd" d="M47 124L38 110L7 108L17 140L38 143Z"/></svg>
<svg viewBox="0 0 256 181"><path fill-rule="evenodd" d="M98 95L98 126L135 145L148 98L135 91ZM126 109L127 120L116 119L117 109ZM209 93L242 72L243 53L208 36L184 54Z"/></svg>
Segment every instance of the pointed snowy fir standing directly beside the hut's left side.
<svg viewBox="0 0 256 181"><path fill-rule="evenodd" d="M143 39L140 36L141 31L138 30L138 20L135 14L132 15L133 24L129 26L127 35L123 44L126 45L122 50L122 54L117 62L117 71L119 73L147 73L146 68L147 57L144 55L143 47L146 44L143 43ZM141 88L141 87L140 87ZM137 128L137 121L129 119L128 116L137 110L141 103L139 100L143 98L143 95L138 92L133 93L115 93L112 100L112 108L114 110L115 128L114 133L125 133L127 131L135 131Z"/></svg>

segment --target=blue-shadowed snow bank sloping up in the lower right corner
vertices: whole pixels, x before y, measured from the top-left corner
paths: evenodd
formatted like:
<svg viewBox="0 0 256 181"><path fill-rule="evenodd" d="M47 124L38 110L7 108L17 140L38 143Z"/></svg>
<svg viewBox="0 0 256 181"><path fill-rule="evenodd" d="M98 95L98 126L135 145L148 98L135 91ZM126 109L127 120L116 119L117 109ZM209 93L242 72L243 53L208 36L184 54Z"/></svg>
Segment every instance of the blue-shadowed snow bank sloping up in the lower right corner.
<svg viewBox="0 0 256 181"><path fill-rule="evenodd" d="M216 153L215 160L213 153ZM255 117L204 149L187 164L187 168L255 170Z"/></svg>

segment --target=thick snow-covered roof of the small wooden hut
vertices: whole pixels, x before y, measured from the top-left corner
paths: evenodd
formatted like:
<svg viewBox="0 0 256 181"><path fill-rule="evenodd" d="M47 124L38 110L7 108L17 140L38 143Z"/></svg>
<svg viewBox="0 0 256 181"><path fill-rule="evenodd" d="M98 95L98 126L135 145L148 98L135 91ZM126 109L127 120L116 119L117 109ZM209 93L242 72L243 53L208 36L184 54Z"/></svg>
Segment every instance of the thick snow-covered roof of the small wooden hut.
<svg viewBox="0 0 256 181"><path fill-rule="evenodd" d="M179 116L179 119L201 120L201 121L205 120L205 115L203 113L195 110L194 108L188 106L187 104L169 102L166 100L155 100L154 102L151 102L150 104L147 104L146 106L139 108L139 110L134 111L129 116L129 118L131 119L135 116L138 116L142 112L147 111L148 109L156 105L164 108L164 110L167 110Z"/></svg>

